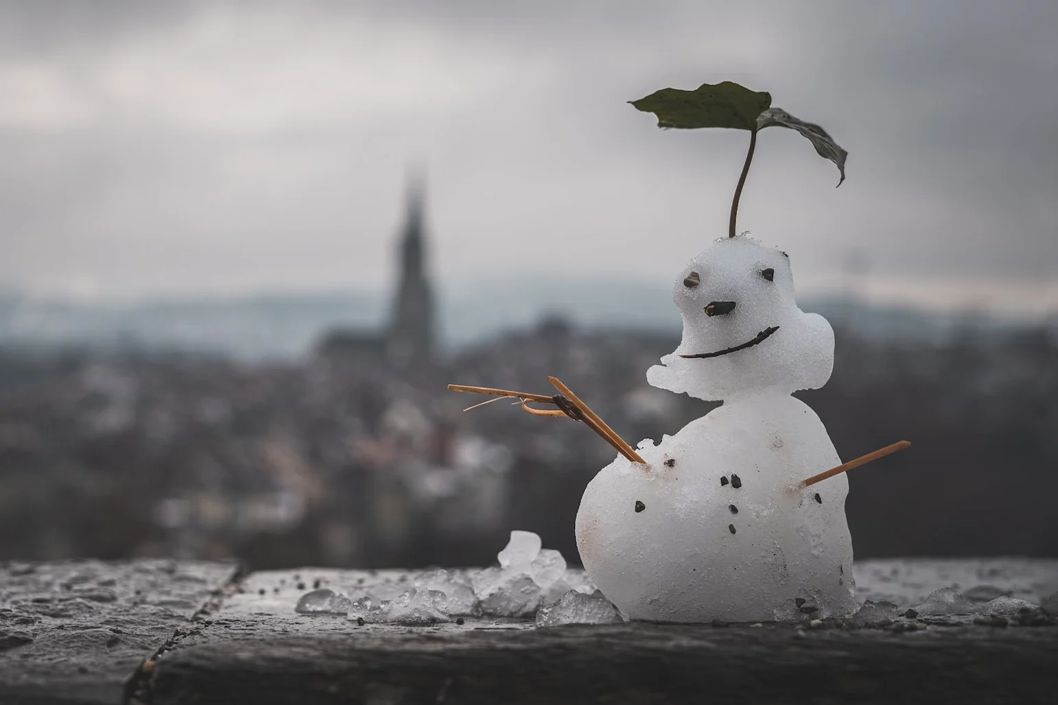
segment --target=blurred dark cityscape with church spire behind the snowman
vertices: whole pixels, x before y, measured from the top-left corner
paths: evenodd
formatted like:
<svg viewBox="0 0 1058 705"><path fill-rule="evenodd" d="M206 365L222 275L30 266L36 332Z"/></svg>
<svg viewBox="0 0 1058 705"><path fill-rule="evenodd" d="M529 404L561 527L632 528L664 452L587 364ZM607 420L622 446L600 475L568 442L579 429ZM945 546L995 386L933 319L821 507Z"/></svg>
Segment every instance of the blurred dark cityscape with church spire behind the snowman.
<svg viewBox="0 0 1058 705"><path fill-rule="evenodd" d="M442 351L409 193L389 320L247 363L135 347L0 350L0 558L234 556L254 568L491 562L512 528L578 560L573 517L614 451L448 383L547 393L557 375L625 440L710 405L646 385L678 331L560 316ZM872 332L837 308L834 375L802 397L855 470L858 557L1058 555L1058 336L1044 324ZM943 333L943 334L942 334Z"/></svg>

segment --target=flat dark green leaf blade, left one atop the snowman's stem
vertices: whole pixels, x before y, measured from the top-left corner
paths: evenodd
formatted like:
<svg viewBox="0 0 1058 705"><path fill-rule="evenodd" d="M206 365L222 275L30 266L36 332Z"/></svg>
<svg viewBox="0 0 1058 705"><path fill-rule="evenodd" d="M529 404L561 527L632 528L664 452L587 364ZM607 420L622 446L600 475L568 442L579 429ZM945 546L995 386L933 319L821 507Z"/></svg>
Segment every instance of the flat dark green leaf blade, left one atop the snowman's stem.
<svg viewBox="0 0 1058 705"><path fill-rule="evenodd" d="M663 88L630 103L638 110L657 115L660 128L726 127L752 131L758 129L758 117L771 106L771 94L756 93L726 80L715 86L703 84L694 91Z"/></svg>

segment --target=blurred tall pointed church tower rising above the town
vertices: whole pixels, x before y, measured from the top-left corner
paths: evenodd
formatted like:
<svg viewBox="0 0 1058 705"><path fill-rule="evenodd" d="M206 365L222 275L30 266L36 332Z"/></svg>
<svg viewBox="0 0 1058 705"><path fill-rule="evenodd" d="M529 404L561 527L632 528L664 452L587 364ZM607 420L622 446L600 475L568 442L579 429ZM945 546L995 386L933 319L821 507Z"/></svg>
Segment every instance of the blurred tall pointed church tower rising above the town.
<svg viewBox="0 0 1058 705"><path fill-rule="evenodd" d="M409 181L399 244L400 279L386 336L386 356L402 368L430 366L434 360L434 296L426 278L422 222L424 190L421 177Z"/></svg>

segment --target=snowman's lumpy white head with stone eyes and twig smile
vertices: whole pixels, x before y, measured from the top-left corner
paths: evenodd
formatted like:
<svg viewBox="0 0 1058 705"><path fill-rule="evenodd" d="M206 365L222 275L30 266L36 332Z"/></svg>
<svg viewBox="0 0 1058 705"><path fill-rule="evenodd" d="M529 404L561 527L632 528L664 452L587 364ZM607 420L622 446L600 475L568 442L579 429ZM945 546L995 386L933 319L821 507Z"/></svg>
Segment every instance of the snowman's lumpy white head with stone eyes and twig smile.
<svg viewBox="0 0 1058 705"><path fill-rule="evenodd" d="M704 400L822 387L834 367L834 331L794 299L785 253L746 236L706 248L676 278L683 317L675 352L646 372L655 387Z"/></svg>

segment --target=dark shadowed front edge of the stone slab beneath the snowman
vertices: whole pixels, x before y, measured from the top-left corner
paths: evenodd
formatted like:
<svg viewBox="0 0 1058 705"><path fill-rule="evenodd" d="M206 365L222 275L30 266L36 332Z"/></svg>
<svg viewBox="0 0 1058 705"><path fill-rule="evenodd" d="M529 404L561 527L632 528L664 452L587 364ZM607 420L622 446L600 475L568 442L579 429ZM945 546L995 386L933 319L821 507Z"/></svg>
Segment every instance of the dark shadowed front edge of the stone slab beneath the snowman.
<svg viewBox="0 0 1058 705"><path fill-rule="evenodd" d="M1042 703L1058 689L1054 627L227 631L160 664L153 702Z"/></svg>

